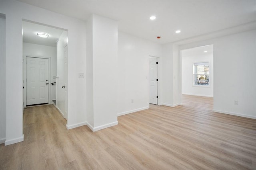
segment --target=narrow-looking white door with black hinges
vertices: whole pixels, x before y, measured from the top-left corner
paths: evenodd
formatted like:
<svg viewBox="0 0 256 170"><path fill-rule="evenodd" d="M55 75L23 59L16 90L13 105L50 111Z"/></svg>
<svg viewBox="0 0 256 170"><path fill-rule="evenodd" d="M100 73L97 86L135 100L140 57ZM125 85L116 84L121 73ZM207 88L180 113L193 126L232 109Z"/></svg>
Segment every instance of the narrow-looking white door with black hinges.
<svg viewBox="0 0 256 170"><path fill-rule="evenodd" d="M157 104L157 58L149 57L149 103Z"/></svg>

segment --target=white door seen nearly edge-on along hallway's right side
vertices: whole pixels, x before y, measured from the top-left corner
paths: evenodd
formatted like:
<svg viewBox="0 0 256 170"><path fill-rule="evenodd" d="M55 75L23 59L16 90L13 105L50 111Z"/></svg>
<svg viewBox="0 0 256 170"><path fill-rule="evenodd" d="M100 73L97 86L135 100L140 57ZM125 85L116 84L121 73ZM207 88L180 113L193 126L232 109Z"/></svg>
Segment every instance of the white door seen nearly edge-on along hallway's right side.
<svg viewBox="0 0 256 170"><path fill-rule="evenodd" d="M68 45L64 48L64 116L68 119Z"/></svg>

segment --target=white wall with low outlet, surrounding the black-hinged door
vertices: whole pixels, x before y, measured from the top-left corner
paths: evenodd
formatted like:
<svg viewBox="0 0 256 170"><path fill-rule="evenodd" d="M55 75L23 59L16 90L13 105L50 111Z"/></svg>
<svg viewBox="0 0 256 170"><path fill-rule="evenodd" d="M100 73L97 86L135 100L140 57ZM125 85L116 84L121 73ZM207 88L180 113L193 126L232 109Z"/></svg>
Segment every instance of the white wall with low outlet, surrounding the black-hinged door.
<svg viewBox="0 0 256 170"><path fill-rule="evenodd" d="M148 55L160 57L158 66L162 66L162 45L118 32L118 115L149 107ZM161 69L158 74L162 86ZM159 94L158 102L162 103L161 100Z"/></svg>

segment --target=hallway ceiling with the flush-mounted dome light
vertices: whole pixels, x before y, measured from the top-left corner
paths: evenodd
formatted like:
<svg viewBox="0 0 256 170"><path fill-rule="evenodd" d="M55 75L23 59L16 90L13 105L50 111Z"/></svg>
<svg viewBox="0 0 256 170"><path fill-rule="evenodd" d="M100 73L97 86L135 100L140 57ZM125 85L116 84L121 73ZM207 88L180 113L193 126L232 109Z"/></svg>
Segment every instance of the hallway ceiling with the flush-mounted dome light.
<svg viewBox="0 0 256 170"><path fill-rule="evenodd" d="M23 42L56 47L56 41L63 30L56 29L36 23L22 21ZM37 33L47 33L48 38L37 36Z"/></svg>

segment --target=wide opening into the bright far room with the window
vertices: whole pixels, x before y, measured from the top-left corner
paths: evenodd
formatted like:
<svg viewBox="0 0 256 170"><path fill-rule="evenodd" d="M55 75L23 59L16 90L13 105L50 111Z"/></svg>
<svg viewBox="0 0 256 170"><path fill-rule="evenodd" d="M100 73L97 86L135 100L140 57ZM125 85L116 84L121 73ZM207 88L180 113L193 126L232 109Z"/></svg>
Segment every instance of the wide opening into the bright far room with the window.
<svg viewBox="0 0 256 170"><path fill-rule="evenodd" d="M180 54L183 102L189 96L213 100L213 45L184 49Z"/></svg>

